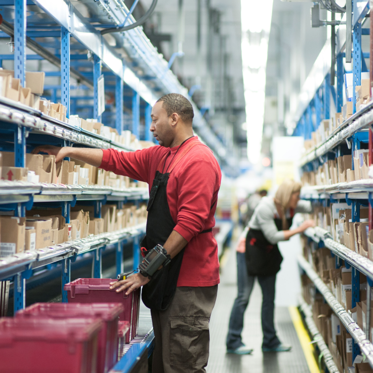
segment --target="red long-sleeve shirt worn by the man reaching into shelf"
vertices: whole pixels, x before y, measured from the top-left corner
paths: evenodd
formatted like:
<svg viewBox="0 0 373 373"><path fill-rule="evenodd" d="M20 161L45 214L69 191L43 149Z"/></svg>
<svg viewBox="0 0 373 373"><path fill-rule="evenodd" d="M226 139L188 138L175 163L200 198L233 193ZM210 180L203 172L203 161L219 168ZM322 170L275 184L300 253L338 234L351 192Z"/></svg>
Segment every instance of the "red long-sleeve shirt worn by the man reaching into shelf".
<svg viewBox="0 0 373 373"><path fill-rule="evenodd" d="M199 140L195 136L185 144L190 141ZM136 152L103 150L100 168L145 181L151 188L161 159L171 152L166 160L166 172L178 147L152 146ZM201 145L194 146L170 174L167 201L176 222L174 230L188 241L177 286L213 286L219 283L216 241L211 232L199 233L215 226L220 180L220 167L215 157L208 147Z"/></svg>

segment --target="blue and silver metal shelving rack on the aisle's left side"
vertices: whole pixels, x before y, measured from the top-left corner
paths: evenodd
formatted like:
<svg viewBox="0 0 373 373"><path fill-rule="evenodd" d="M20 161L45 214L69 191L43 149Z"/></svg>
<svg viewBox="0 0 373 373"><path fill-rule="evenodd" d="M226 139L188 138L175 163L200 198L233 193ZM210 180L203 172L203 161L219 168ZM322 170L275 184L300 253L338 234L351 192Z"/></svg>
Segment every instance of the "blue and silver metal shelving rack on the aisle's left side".
<svg viewBox="0 0 373 373"><path fill-rule="evenodd" d="M46 85L50 92L46 98L60 101L67 108L67 118L82 114L84 118L96 118L99 122L117 129L131 129L141 140L152 140L151 108L163 94L176 92L188 97L183 87L170 70L167 61L146 38L142 28L117 33L117 47L125 52L122 56L106 41L97 28L122 24L126 18L135 22L122 0L97 0L89 4L94 18L87 18L69 0L0 0L2 22L0 38L14 37L14 54L0 55L3 61L14 59L15 77L25 82L26 60L44 60L51 65L46 77L60 78L60 84ZM9 8L13 7L14 8ZM31 12L27 6L32 6ZM42 13L42 17L35 14ZM13 19L14 18L14 19ZM37 38L48 36L53 42L38 42ZM35 54L26 54L26 47ZM51 52L54 51L54 52ZM88 52L88 53L87 53ZM57 67L57 70L55 67ZM53 67L53 68L52 68ZM80 67L83 67L81 69ZM97 80L105 79L105 94L114 97L106 103L102 117L98 115ZM71 84L70 77L77 81ZM84 90L84 95L77 90ZM90 91L93 91L90 93ZM111 100L113 101L113 100ZM228 174L235 173L236 163L223 143L217 138L197 106L194 106L194 128L211 147ZM84 111L85 110L85 111ZM87 114L88 113L88 114ZM142 125L144 123L144 125ZM88 146L93 148L114 147L120 151L133 151L120 143L100 135L74 127L34 110L28 106L0 97L0 150L15 153L15 166L25 166L25 155L39 144L60 146ZM25 216L33 206L61 208L66 222L70 219L70 207L76 203L93 205L95 217L101 216L101 207L107 201L139 204L148 198L147 190L132 188L116 190L93 185L33 184L28 182L0 181L0 210L14 210L16 216ZM94 277L101 277L102 252L106 247L116 250L116 272L123 272L123 245L132 242L133 268L139 264L139 240L145 226L140 225L109 234L89 236L86 239L69 241L34 252L15 254L0 259L0 284L14 283L14 311L24 308L26 281L35 271L55 269L61 264L62 301L67 297L63 285L70 281L70 266L78 256L93 253ZM9 284L9 282L8 282ZM154 347L154 334L150 316L142 312L139 335L126 346L126 354L113 371L130 372L138 361L147 359Z"/></svg>

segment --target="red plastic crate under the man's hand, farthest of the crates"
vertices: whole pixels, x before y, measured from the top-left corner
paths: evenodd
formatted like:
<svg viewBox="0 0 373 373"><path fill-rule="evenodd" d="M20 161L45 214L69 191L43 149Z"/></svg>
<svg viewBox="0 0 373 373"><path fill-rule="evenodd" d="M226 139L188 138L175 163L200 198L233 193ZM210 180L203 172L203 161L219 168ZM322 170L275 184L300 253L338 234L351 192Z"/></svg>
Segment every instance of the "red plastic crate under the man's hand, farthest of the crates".
<svg viewBox="0 0 373 373"><path fill-rule="evenodd" d="M138 316L140 309L140 293L137 289L126 295L124 291L117 293L110 290L110 282L117 280L109 278L78 278L66 284L69 303L121 303L124 311L119 316L120 321L130 322L129 338L132 340L138 331Z"/></svg>

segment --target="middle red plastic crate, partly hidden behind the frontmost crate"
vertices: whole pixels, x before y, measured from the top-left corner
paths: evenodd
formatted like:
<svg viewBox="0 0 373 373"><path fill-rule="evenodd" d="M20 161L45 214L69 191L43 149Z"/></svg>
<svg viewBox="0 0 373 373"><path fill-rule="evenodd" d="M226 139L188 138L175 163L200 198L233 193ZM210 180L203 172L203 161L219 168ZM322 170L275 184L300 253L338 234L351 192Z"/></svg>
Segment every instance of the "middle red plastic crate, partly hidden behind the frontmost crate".
<svg viewBox="0 0 373 373"><path fill-rule="evenodd" d="M98 335L97 373L106 373L118 357L118 321L123 312L119 303L35 303L18 311L16 317L54 319L96 317L104 321Z"/></svg>

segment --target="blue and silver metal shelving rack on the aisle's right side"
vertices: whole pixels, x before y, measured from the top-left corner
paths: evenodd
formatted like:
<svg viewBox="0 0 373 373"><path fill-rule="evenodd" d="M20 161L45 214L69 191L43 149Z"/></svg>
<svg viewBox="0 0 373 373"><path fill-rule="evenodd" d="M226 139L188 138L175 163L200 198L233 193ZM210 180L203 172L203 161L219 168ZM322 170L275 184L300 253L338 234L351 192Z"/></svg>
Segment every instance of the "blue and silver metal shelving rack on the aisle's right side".
<svg viewBox="0 0 373 373"><path fill-rule="evenodd" d="M355 87L361 84L361 72L370 70L370 87L373 73L373 58L370 58L370 69L365 64L365 58L372 55L372 33L373 20L371 18L369 2L357 2L348 0L352 5L352 13L346 11L337 32L331 32L332 39L327 40L320 52L315 64L301 90L300 103L296 110L294 121L296 123L293 131L294 136L303 136L305 140L311 139L311 132L315 131L322 120L330 119L330 102L334 103L337 113L341 113L346 99L344 98L344 74L346 72L344 62L346 55L351 53L353 72L353 115L344 123L330 133L325 140L309 150L301 159L300 167L303 171L316 171L319 166L328 160L333 160L341 155L352 154L355 149L367 147L369 149L369 165L372 164L372 130L373 124L373 103L370 101L364 108L356 111ZM348 7L346 7L348 9ZM369 18L370 17L370 18ZM367 21L369 27L365 27ZM351 24L350 24L351 22ZM351 34L351 39L346 35ZM362 50L362 37L370 35L370 50ZM335 36L335 39L334 39ZM330 52L331 51L331 52ZM334 86L334 71L336 85ZM330 76L332 79L330 79ZM371 98L371 96L370 96ZM351 165L354 170L354 164ZM344 182L333 185L317 185L305 187L302 190L302 198L311 201L319 201L324 206L330 203L347 202L354 214L352 221L359 221L360 205L369 206L369 229L372 229L372 206L373 206L373 183L371 179ZM348 249L344 245L333 241L330 234L316 227L306 231L306 235L319 247L327 247L338 258L345 260L347 267L352 268L352 307L360 301L359 294L359 272L367 276L368 299L371 299L371 286L373 286L373 262L362 257L358 253ZM353 361L355 357L364 352L370 365L373 367L373 346L365 337L357 325L352 323L348 314L341 305L337 305L332 294L322 280L313 271L309 263L303 257L299 258L300 267L309 275L316 287L324 295L333 311L340 317L343 324L353 337ZM339 263L336 261L336 266ZM329 294L330 293L330 294ZM368 302L369 303L369 302ZM370 303L368 309L370 308ZM370 315L370 310L369 310Z"/></svg>

